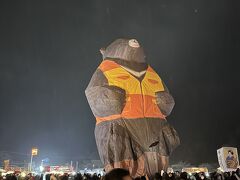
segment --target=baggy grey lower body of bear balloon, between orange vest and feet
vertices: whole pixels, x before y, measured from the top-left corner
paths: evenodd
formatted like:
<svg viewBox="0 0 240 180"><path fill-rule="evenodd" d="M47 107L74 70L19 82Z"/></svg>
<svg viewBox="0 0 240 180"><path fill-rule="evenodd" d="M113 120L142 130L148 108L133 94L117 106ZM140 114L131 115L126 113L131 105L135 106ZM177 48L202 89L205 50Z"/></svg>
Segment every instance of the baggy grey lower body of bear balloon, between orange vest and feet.
<svg viewBox="0 0 240 180"><path fill-rule="evenodd" d="M137 160L145 152L169 156L180 143L175 129L166 120L156 118L102 122L95 127L95 138L104 165Z"/></svg>

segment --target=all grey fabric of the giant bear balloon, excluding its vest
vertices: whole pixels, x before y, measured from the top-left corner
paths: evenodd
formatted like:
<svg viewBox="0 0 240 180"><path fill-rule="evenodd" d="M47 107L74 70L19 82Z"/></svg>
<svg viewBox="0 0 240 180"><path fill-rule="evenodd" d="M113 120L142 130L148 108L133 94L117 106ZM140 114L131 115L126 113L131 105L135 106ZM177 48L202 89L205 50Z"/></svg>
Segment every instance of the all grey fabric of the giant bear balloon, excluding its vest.
<svg viewBox="0 0 240 180"><path fill-rule="evenodd" d="M129 39L115 40L105 50L101 50L103 59L112 60L137 72L146 70L148 65L143 48L134 48L128 42ZM141 81L143 76L136 78ZM109 86L100 69L93 74L85 93L95 117L121 114L125 106L125 90ZM156 92L155 95L160 111L168 116L175 102L167 87L164 85L164 91ZM168 156L180 144L175 129L160 118L106 120L96 125L95 138L105 168L118 167L119 164L123 167L124 162L130 160L134 165L129 169L138 171L141 164L145 164L144 169L148 169L146 171L150 175L160 169L166 170Z"/></svg>

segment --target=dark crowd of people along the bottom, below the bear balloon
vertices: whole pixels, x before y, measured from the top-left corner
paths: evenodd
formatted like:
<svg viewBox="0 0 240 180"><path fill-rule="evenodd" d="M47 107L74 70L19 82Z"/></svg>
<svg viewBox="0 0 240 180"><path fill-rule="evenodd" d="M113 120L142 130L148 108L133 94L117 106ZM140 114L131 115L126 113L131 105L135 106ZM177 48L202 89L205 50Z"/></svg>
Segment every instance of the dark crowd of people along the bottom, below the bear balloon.
<svg viewBox="0 0 240 180"><path fill-rule="evenodd" d="M80 174L76 175L21 175L8 174L6 177L0 176L0 180L132 180L130 173L125 169L113 169L104 176L100 174ZM173 172L173 173L156 173L152 178L137 177L135 180L240 180L240 169L232 172L211 172L211 173L187 173L187 172Z"/></svg>

